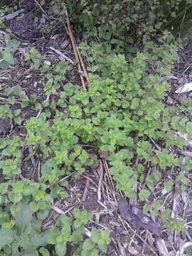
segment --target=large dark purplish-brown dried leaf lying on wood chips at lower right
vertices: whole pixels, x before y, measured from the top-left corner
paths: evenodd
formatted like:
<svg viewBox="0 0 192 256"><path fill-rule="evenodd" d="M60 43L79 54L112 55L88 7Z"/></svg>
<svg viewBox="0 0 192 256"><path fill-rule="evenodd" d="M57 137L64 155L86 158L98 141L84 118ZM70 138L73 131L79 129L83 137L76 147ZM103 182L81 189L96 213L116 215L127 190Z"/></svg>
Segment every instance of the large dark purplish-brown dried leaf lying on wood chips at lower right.
<svg viewBox="0 0 192 256"><path fill-rule="evenodd" d="M158 226L158 223L142 213L141 208L129 205L127 200L121 199L119 201L119 212L122 218L126 219L131 225L134 225L135 228L147 229L159 237L163 235L162 228Z"/></svg>

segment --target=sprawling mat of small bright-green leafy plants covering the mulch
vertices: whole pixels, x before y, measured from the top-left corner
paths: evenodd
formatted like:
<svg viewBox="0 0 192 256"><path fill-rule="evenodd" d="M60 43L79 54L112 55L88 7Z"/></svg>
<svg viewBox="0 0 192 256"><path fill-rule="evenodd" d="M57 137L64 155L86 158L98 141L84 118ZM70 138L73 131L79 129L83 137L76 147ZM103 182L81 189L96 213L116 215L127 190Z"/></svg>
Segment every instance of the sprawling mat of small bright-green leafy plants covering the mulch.
<svg viewBox="0 0 192 256"><path fill-rule="evenodd" d="M35 14L41 6L36 2ZM92 177L101 163L110 171L112 193L136 199L143 213L156 220L151 233L167 239L170 230L186 232L186 216L173 214L165 203L165 195L183 195L191 182L192 160L183 136L192 139L191 102L173 97L168 79L183 46L177 32L167 29L165 6L177 18L181 6L191 8L183 2L66 0L41 7L57 25L65 23L68 9L74 31L82 33L78 48L91 81L86 90L74 63L55 58L49 46L43 48L45 38L38 46L36 38L33 43L19 41L1 18L1 80L12 73L0 94L2 255L110 253L115 235L110 225L92 224L94 213L83 205L66 212L54 206L68 201L70 183L85 171ZM6 6L1 16L21 7ZM33 20L39 25L41 16ZM61 215L49 223L54 210ZM157 226L164 233L158 235Z"/></svg>

